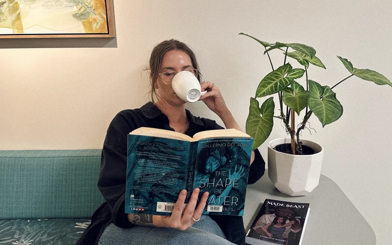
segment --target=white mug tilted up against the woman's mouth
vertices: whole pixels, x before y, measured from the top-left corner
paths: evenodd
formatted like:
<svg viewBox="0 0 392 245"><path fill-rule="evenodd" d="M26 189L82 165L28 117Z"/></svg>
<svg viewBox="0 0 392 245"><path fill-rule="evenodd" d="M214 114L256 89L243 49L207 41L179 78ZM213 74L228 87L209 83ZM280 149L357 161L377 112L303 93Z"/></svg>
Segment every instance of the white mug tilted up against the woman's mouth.
<svg viewBox="0 0 392 245"><path fill-rule="evenodd" d="M199 80L188 70L175 74L172 80L172 88L177 96L186 102L196 102L207 92L201 91Z"/></svg>

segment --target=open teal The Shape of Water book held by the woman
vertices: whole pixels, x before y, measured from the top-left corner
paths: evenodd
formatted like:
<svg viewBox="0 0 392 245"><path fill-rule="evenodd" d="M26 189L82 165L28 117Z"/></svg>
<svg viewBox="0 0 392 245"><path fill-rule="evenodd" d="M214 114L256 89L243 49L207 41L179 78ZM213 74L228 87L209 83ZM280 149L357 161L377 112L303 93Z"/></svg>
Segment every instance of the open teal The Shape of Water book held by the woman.
<svg viewBox="0 0 392 245"><path fill-rule="evenodd" d="M190 137L153 128L128 134L125 213L170 215L181 190L209 197L203 214L242 216L253 138L235 129Z"/></svg>

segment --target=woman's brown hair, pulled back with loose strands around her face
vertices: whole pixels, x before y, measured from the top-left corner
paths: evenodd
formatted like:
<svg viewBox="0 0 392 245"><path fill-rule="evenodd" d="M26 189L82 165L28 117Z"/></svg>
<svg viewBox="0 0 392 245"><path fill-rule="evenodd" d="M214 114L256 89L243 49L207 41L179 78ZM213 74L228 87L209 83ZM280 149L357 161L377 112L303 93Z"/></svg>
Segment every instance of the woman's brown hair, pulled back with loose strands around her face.
<svg viewBox="0 0 392 245"><path fill-rule="evenodd" d="M147 70L150 71L149 72L149 78L150 78L150 91L149 91L150 100L154 104L155 104L155 98L158 98L158 94L157 94L157 92L155 90L155 83L156 83L156 80L158 79L158 76L159 76L159 74L158 74L159 73L159 69L161 67L163 57L170 50L181 50L181 51L184 51L185 53L187 53L189 55L189 57L191 57L193 68L195 68L197 70L199 69L195 53L186 44L184 44L184 43L182 43L182 42L180 42L178 40L174 40L174 39L166 40L166 41L163 41L163 42L157 44L154 47L154 49L152 49L151 56L150 56L150 61L149 61L149 67L147 68ZM199 80L199 82L201 81L201 74L200 74L200 72L197 72L197 80Z"/></svg>

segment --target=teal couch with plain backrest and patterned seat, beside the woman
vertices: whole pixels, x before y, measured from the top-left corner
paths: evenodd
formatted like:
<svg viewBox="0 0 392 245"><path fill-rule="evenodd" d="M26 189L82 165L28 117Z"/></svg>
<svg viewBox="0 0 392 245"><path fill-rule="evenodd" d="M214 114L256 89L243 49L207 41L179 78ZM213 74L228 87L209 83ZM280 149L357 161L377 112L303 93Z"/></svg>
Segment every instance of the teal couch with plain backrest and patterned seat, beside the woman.
<svg viewBox="0 0 392 245"><path fill-rule="evenodd" d="M0 245L73 245L104 201L101 150L0 151Z"/></svg>

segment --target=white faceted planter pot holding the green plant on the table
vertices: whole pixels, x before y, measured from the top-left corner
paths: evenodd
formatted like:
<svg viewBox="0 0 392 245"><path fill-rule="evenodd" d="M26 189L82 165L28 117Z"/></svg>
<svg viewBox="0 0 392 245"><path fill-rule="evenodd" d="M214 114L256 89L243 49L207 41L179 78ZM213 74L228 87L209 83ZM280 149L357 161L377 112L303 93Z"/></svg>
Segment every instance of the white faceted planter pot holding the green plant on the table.
<svg viewBox="0 0 392 245"><path fill-rule="evenodd" d="M305 196L319 185L324 148L310 140L301 141L315 150L315 154L291 155L273 149L291 143L290 138L274 139L268 145L268 177L276 189L289 196Z"/></svg>

